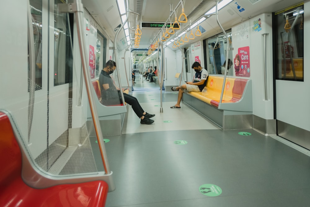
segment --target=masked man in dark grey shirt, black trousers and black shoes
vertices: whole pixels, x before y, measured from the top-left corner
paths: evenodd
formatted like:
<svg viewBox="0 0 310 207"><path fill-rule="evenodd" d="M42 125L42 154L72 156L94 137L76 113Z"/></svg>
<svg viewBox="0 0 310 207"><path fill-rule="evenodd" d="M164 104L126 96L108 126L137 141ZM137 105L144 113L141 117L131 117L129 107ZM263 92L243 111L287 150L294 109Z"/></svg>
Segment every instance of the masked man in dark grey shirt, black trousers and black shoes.
<svg viewBox="0 0 310 207"><path fill-rule="evenodd" d="M122 95L120 89L114 85L114 82L110 76L116 69L116 63L113 60L109 60L105 68L102 69L99 75L99 85L101 90L101 103L105 106L119 105L122 103ZM140 106L138 100L126 93L123 94L125 102L131 105L135 114L141 119L141 124L152 124L154 120L150 119L155 114L149 114L145 112Z"/></svg>

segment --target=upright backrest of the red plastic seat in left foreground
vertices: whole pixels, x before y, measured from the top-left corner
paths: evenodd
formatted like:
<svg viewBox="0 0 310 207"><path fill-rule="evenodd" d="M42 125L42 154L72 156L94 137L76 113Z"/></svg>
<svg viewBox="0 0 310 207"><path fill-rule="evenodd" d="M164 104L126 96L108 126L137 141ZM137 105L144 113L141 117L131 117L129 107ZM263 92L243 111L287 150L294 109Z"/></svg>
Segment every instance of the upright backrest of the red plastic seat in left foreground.
<svg viewBox="0 0 310 207"><path fill-rule="evenodd" d="M9 118L0 112L0 189L21 174L21 152Z"/></svg>

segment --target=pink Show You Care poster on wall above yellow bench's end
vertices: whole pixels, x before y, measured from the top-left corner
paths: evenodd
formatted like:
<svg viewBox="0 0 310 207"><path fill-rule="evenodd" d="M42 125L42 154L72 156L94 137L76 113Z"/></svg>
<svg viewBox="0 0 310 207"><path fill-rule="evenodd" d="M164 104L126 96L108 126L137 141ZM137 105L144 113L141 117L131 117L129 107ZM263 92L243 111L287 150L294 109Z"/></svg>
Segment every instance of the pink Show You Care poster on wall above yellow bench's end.
<svg viewBox="0 0 310 207"><path fill-rule="evenodd" d="M250 77L250 47L239 47L233 63L236 76Z"/></svg>

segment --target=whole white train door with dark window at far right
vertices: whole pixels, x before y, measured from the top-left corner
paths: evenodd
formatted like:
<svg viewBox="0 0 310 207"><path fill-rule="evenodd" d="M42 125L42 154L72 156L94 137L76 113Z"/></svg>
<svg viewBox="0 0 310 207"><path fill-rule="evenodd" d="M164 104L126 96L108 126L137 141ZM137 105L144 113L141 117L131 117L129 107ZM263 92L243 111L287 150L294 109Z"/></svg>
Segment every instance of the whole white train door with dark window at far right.
<svg viewBox="0 0 310 207"><path fill-rule="evenodd" d="M276 57L275 90L277 134L304 148L310 149L310 108L308 72L310 45L304 34L309 21L304 21L304 8L310 3L296 5L275 13ZM308 9L307 9L308 8Z"/></svg>

